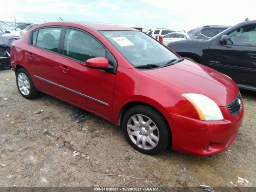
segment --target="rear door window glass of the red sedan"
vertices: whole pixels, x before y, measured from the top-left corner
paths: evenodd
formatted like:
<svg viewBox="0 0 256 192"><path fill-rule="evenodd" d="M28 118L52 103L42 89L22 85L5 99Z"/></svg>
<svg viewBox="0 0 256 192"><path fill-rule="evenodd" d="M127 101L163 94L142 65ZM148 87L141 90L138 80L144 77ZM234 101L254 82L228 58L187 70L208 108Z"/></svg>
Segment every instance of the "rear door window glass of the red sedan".
<svg viewBox="0 0 256 192"><path fill-rule="evenodd" d="M61 29L62 28L60 27L40 29L38 31L36 46L53 52L57 52Z"/></svg>

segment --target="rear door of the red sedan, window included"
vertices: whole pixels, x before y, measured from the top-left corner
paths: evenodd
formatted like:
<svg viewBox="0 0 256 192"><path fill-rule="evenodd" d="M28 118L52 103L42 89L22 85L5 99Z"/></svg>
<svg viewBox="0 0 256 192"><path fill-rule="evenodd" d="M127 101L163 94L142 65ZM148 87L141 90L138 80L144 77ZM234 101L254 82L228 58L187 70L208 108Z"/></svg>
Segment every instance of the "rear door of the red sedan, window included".
<svg viewBox="0 0 256 192"><path fill-rule="evenodd" d="M25 51L26 65L40 90L58 95L58 42L62 28L42 28L32 34L32 42Z"/></svg>

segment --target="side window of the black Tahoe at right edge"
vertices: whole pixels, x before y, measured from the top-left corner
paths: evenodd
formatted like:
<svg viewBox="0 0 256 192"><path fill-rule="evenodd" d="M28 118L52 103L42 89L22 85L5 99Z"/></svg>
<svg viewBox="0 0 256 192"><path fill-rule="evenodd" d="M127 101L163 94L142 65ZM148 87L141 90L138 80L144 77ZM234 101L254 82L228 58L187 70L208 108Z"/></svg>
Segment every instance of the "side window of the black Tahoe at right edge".
<svg viewBox="0 0 256 192"><path fill-rule="evenodd" d="M256 46L256 25L241 27L228 34L228 45Z"/></svg>

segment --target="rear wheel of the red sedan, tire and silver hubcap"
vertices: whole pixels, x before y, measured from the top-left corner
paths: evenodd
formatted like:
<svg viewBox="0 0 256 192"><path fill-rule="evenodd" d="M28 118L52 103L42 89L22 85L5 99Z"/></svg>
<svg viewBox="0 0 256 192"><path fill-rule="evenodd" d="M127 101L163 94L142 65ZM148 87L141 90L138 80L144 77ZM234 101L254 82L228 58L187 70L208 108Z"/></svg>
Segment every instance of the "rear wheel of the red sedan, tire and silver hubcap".
<svg viewBox="0 0 256 192"><path fill-rule="evenodd" d="M20 94L26 99L34 99L40 95L40 92L34 86L34 83L24 68L19 68L16 72L16 84Z"/></svg>

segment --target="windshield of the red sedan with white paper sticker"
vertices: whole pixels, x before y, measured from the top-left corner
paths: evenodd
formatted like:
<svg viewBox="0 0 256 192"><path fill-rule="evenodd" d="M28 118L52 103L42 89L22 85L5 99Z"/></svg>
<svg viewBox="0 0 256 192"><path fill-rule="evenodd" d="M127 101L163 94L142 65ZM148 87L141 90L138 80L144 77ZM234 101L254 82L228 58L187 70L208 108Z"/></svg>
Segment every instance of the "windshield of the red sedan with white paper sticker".
<svg viewBox="0 0 256 192"><path fill-rule="evenodd" d="M134 66L164 66L178 57L150 36L140 31L100 31Z"/></svg>

